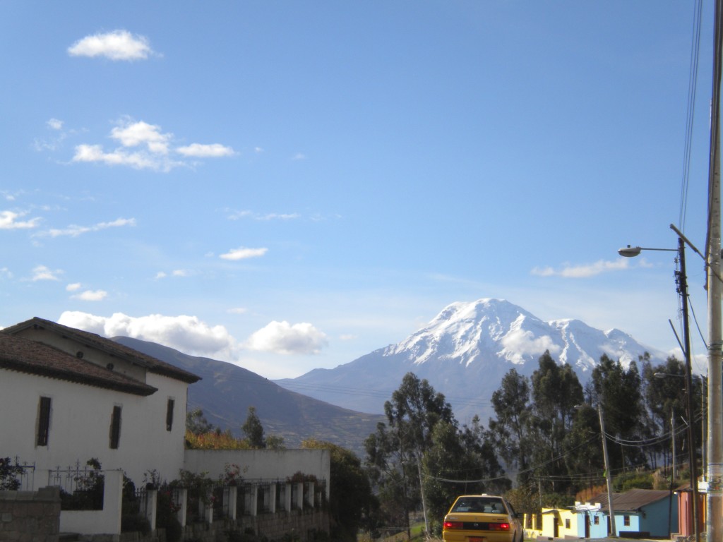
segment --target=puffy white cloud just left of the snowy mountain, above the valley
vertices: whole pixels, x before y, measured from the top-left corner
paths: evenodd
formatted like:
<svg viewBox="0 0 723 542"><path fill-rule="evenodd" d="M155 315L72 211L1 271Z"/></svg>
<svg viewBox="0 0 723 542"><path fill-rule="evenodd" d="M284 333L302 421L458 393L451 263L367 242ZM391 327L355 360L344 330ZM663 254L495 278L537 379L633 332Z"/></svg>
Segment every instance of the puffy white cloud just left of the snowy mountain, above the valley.
<svg viewBox="0 0 723 542"><path fill-rule="evenodd" d="M254 332L246 346L250 350L281 354L316 354L327 344L326 335L312 324L271 322Z"/></svg>

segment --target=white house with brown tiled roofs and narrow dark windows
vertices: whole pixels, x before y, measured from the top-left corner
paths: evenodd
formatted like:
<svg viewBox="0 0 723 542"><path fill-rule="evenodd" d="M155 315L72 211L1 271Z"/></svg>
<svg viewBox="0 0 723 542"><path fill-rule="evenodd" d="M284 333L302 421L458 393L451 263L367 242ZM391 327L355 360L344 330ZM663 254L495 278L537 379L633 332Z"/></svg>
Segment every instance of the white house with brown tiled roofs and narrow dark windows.
<svg viewBox="0 0 723 542"><path fill-rule="evenodd" d="M43 471L96 458L137 484L184 467L189 384L200 377L45 319L0 331L0 457Z"/></svg>

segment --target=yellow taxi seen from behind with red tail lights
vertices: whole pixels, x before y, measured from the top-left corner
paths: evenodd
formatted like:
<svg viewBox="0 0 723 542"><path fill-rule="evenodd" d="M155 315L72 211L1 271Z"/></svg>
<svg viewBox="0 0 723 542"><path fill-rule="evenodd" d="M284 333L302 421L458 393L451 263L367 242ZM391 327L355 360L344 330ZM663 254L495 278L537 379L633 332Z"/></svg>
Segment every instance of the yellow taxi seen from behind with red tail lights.
<svg viewBox="0 0 723 542"><path fill-rule="evenodd" d="M501 496L461 495L445 515L445 542L523 542L525 533L512 505Z"/></svg>

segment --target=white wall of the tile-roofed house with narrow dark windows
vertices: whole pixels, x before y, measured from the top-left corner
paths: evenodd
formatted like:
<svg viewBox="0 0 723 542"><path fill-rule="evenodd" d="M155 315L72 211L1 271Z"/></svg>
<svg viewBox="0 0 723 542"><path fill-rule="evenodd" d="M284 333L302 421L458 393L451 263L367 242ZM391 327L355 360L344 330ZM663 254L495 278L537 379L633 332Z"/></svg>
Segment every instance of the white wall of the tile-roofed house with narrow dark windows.
<svg viewBox="0 0 723 542"><path fill-rule="evenodd" d="M35 486L48 468L66 468L91 457L104 469L122 469L137 484L150 469L168 480L184 464L187 384L149 374L157 387L149 397L0 369L0 456L36 464ZM51 397L48 445L35 446L40 396ZM172 431L166 431L168 397L175 400ZM118 449L110 448L111 413L122 408Z"/></svg>

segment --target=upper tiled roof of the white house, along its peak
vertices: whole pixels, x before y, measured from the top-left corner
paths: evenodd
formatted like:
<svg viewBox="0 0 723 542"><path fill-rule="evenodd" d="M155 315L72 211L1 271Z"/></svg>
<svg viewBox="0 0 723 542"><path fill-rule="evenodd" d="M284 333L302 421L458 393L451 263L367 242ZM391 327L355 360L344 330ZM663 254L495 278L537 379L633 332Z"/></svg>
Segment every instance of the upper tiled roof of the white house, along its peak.
<svg viewBox="0 0 723 542"><path fill-rule="evenodd" d="M201 379L201 377L189 371L179 369L176 366L167 364L165 361L153 358L153 356L147 356L138 350L116 343L114 340L101 337L95 333L76 330L73 327L67 327L43 318L35 317L30 320L26 320L25 322L20 322L20 324L6 327L4 330L0 330L0 332L14 335L29 327L40 327L55 332L58 335L72 338L77 340L79 343L83 343L92 348L106 352L111 356L116 356L117 358L124 359L132 364L145 367L145 369L151 373L162 374L164 377L170 377L180 380L181 382L187 382L187 384L198 382Z"/></svg>

